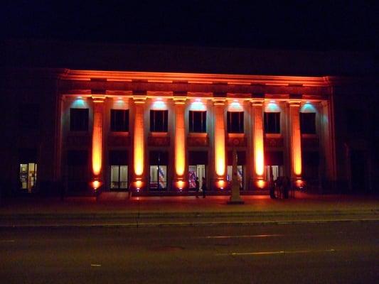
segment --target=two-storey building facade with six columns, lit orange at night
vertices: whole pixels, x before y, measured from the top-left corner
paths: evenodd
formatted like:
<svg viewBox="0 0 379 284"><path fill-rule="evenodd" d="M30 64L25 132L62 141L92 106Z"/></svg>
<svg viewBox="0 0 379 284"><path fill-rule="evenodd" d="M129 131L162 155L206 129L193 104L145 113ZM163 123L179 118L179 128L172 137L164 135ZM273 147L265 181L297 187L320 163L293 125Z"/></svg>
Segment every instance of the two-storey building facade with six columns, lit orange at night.
<svg viewBox="0 0 379 284"><path fill-rule="evenodd" d="M180 192L193 190L196 177L210 190L227 190L233 149L241 190L262 190L287 175L317 192L338 191L356 182L351 169L360 162L353 165L353 155L359 161L360 153L372 151L361 138L341 134L338 92L353 79L98 68L9 68L4 74L14 102L9 113L21 119L14 122L17 133L4 130L6 145L17 141L5 157L12 166L4 167L4 180L25 192L59 184L80 193L94 181L105 191ZM21 91L26 83L31 94ZM36 131L23 132L36 116ZM375 163L365 163L365 187Z"/></svg>

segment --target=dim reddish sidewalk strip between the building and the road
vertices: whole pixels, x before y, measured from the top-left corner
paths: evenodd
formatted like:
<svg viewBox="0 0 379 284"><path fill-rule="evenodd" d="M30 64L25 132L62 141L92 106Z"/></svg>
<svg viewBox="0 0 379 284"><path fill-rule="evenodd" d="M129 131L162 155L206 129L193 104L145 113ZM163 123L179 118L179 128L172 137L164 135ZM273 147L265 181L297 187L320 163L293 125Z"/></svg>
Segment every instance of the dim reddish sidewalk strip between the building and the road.
<svg viewBox="0 0 379 284"><path fill-rule="evenodd" d="M243 196L132 197L106 192L95 197L11 199L0 207L0 226L168 226L273 222L379 221L378 196L309 195L289 200Z"/></svg>

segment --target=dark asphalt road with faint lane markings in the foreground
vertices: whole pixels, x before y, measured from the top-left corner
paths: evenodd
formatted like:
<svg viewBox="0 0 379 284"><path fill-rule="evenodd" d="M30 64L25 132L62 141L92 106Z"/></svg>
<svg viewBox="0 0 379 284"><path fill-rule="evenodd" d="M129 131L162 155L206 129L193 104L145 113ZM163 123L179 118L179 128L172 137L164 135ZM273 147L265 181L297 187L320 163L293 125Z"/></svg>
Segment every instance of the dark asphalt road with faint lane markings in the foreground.
<svg viewBox="0 0 379 284"><path fill-rule="evenodd" d="M0 283L378 283L379 222L0 229Z"/></svg>

